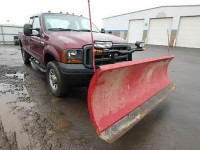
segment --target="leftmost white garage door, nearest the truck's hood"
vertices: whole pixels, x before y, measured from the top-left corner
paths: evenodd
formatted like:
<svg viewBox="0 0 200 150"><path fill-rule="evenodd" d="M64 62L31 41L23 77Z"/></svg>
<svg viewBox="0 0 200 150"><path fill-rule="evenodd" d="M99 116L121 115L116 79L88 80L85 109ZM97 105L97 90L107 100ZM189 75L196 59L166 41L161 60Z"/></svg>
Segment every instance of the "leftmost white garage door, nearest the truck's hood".
<svg viewBox="0 0 200 150"><path fill-rule="evenodd" d="M128 42L135 43L142 41L144 30L144 20L131 20L129 22Z"/></svg>

